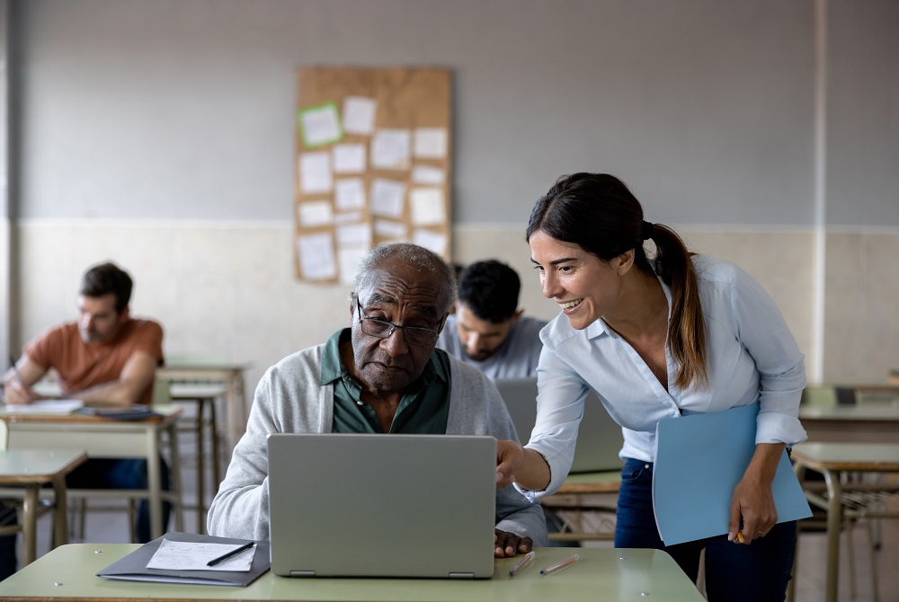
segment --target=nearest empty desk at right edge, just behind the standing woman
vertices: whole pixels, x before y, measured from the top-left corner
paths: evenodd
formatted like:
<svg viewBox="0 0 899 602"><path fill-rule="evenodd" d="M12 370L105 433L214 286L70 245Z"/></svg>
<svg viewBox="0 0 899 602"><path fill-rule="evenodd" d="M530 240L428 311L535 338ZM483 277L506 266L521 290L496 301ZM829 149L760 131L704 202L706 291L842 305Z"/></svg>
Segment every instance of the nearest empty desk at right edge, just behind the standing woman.
<svg viewBox="0 0 899 602"><path fill-rule="evenodd" d="M899 444L897 443L800 443L793 447L793 463L799 482L806 470L824 476L826 497L806 491L806 498L815 506L827 510L827 602L836 602L840 568L840 528L844 516L843 493L850 487L841 482L846 472L899 473ZM859 489L868 490L859 485ZM888 488L895 492L897 487ZM847 511L848 512L848 511ZM856 516L899 518L899 511L865 508L854 509Z"/></svg>

